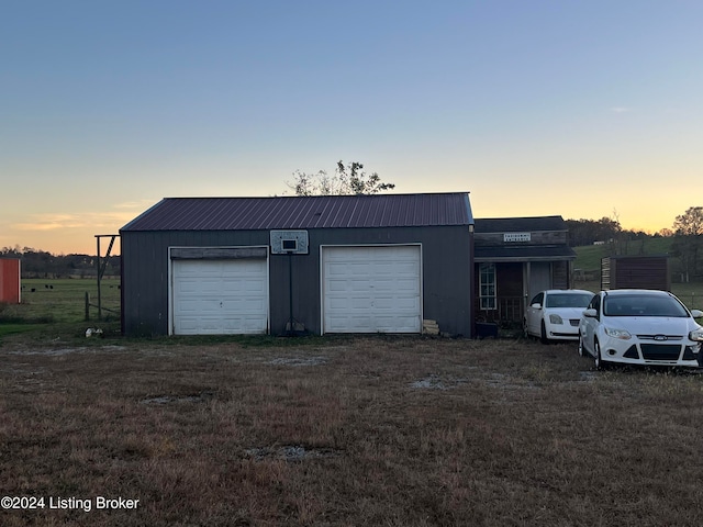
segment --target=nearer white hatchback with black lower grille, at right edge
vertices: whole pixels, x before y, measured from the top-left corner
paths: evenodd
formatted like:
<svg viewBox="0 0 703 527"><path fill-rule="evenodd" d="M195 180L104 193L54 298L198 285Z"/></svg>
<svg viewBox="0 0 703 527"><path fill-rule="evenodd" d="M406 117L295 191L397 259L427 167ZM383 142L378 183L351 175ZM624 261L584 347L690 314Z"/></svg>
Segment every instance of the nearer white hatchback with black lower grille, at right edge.
<svg viewBox="0 0 703 527"><path fill-rule="evenodd" d="M579 355L609 362L700 367L703 327L667 291L621 289L593 296L579 325Z"/></svg>

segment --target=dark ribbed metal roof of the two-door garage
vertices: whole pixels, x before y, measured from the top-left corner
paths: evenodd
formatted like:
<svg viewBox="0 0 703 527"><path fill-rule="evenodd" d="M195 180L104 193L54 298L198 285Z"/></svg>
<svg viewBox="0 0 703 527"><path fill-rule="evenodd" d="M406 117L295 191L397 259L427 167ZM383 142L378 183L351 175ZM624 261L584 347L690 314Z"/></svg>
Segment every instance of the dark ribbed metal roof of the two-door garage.
<svg viewBox="0 0 703 527"><path fill-rule="evenodd" d="M257 231L471 225L468 192L281 198L165 198L121 228Z"/></svg>

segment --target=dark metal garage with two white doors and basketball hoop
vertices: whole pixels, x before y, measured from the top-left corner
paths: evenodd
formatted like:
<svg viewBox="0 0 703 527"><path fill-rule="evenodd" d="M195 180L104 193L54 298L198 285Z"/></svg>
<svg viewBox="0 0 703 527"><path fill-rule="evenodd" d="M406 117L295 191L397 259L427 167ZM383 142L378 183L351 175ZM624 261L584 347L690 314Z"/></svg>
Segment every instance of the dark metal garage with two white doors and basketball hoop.
<svg viewBox="0 0 703 527"><path fill-rule="evenodd" d="M466 192L168 198L120 231L127 335L471 335Z"/></svg>

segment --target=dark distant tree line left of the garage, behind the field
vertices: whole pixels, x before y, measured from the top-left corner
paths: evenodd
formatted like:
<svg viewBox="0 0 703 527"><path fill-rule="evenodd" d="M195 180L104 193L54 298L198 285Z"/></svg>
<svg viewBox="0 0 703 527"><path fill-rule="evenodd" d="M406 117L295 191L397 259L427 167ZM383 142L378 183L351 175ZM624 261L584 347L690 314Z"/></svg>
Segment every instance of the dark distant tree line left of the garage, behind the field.
<svg viewBox="0 0 703 527"><path fill-rule="evenodd" d="M90 255L53 255L32 247L3 247L0 258L18 258L22 278L96 278L98 257ZM101 259L104 264L104 258ZM104 276L120 276L120 256L107 259Z"/></svg>

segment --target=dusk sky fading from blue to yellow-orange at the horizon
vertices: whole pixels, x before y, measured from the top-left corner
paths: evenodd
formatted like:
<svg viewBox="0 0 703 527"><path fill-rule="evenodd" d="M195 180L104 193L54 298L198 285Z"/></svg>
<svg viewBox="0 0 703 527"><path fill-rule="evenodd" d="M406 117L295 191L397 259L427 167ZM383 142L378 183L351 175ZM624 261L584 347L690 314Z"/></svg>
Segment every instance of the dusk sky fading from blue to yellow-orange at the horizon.
<svg viewBox="0 0 703 527"><path fill-rule="evenodd" d="M0 248L360 161L476 217L703 205L703 2L4 1Z"/></svg>

